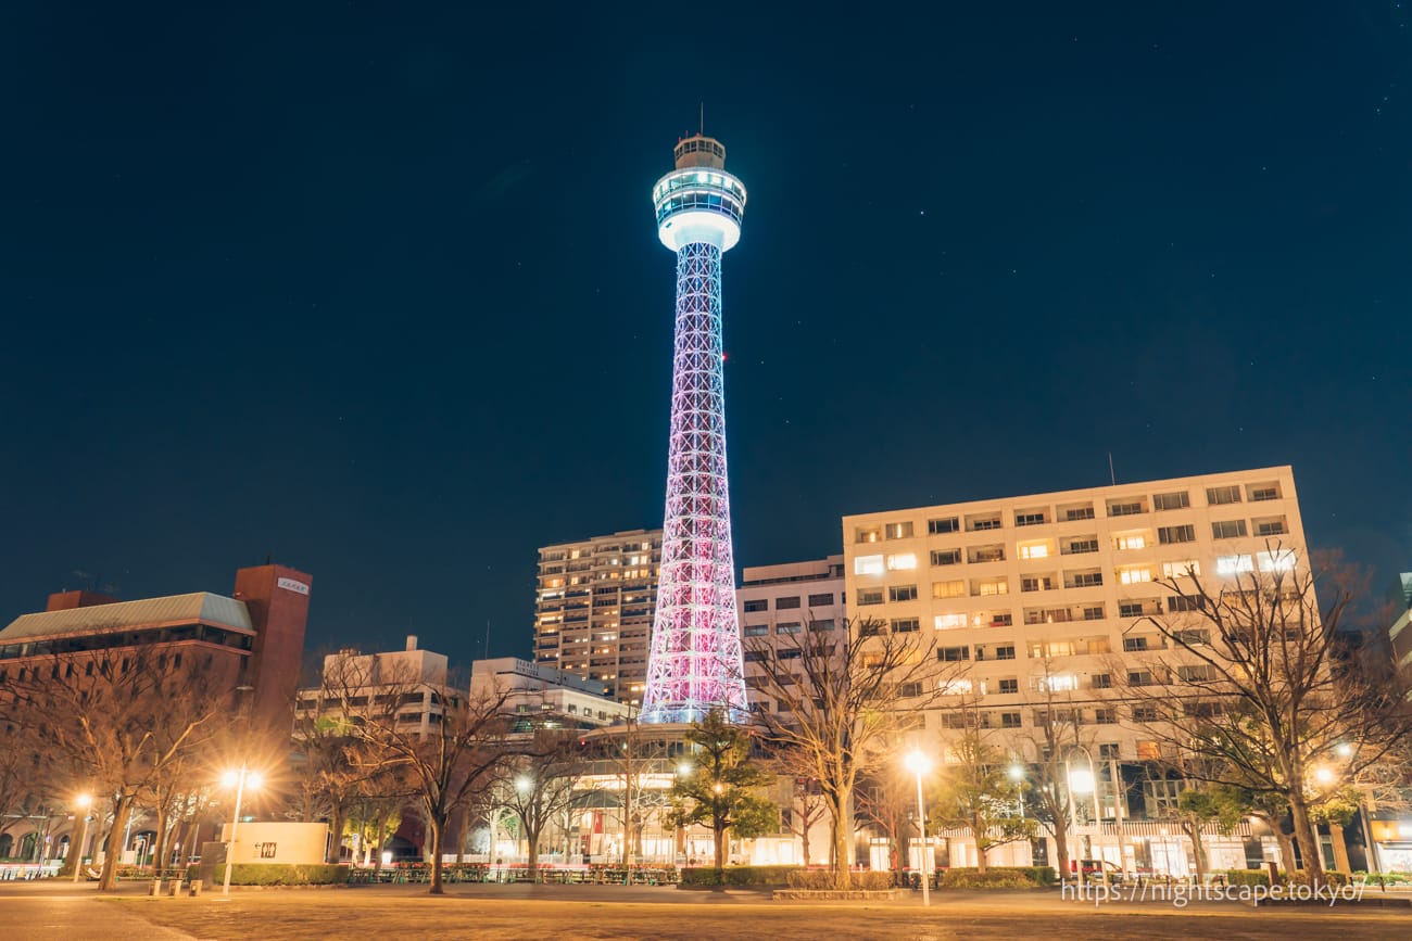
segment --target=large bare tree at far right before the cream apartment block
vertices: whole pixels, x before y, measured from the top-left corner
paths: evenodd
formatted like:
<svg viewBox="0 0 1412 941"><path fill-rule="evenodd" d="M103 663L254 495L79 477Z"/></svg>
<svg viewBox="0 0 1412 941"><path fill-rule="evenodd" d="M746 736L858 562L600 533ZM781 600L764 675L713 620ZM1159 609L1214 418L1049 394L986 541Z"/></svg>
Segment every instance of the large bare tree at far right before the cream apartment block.
<svg viewBox="0 0 1412 941"><path fill-rule="evenodd" d="M1152 681L1128 693L1149 736L1203 759L1187 762L1189 775L1288 806L1305 870L1320 885L1312 810L1412 731L1408 680L1391 663L1348 669L1339 625L1353 594L1340 566L1310 566L1271 542L1233 567L1224 578L1187 570L1159 583L1175 593L1169 611L1130 633L1155 631L1165 650Z"/></svg>

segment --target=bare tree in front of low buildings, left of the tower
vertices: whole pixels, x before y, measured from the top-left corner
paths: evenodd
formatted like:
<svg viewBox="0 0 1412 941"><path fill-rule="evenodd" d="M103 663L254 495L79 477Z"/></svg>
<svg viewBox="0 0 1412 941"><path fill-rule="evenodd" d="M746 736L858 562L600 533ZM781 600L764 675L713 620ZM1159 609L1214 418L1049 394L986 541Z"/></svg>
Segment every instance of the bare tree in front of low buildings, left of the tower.
<svg viewBox="0 0 1412 941"><path fill-rule="evenodd" d="M429 835L429 892L443 894L448 827L457 811L494 783L508 753L508 691L472 696L395 666L374 676L373 663L371 657L339 656L325 669L325 686L337 700L352 736L366 746L357 760L364 767L404 775ZM424 703L428 693L441 711L424 732L419 721L404 717L404 708Z"/></svg>

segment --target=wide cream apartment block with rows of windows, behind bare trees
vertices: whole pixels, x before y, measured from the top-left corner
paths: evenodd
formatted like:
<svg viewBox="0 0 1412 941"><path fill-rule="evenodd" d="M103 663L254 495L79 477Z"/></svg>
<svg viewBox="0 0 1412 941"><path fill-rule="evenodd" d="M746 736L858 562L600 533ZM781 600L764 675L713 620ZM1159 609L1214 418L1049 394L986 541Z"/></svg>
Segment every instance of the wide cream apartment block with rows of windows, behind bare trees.
<svg viewBox="0 0 1412 941"><path fill-rule="evenodd" d="M1082 728L1075 760L1096 791L1083 852L1187 872L1186 851L1155 822L1180 782L1145 773L1161 749L1124 690L1203 669L1145 624L1190 609L1189 571L1210 591L1308 564L1289 467L860 514L843 518L843 540L850 612L875 619L870 629L935 639L947 696L915 727L918 745L945 756L947 734L971 721L955 708L964 696L997 746L1024 760L1039 712L1060 703ZM1155 660L1183 653L1190 667L1158 676ZM1213 869L1258 858L1240 835L1213 841ZM953 846L950 865L974 865L974 846Z"/></svg>

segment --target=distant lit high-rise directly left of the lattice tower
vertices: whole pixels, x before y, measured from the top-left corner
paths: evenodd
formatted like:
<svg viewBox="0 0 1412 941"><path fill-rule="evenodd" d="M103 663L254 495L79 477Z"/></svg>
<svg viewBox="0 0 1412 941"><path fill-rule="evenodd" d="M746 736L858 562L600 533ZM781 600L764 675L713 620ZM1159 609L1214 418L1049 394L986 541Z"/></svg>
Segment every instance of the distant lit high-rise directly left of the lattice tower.
<svg viewBox="0 0 1412 941"><path fill-rule="evenodd" d="M641 703L661 561L661 529L541 549L535 663L599 680L621 703Z"/></svg>

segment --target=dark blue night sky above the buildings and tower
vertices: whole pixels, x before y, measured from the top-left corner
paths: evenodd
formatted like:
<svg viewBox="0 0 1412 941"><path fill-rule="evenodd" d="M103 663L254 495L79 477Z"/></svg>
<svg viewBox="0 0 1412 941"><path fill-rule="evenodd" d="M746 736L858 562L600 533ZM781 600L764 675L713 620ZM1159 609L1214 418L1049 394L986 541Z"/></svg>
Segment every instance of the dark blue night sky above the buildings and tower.
<svg viewBox="0 0 1412 941"><path fill-rule="evenodd" d="M1111 451L1412 567L1402 3L208 6L0 7L0 624L273 554L311 649L527 656L537 547L661 525L702 100L737 564Z"/></svg>

